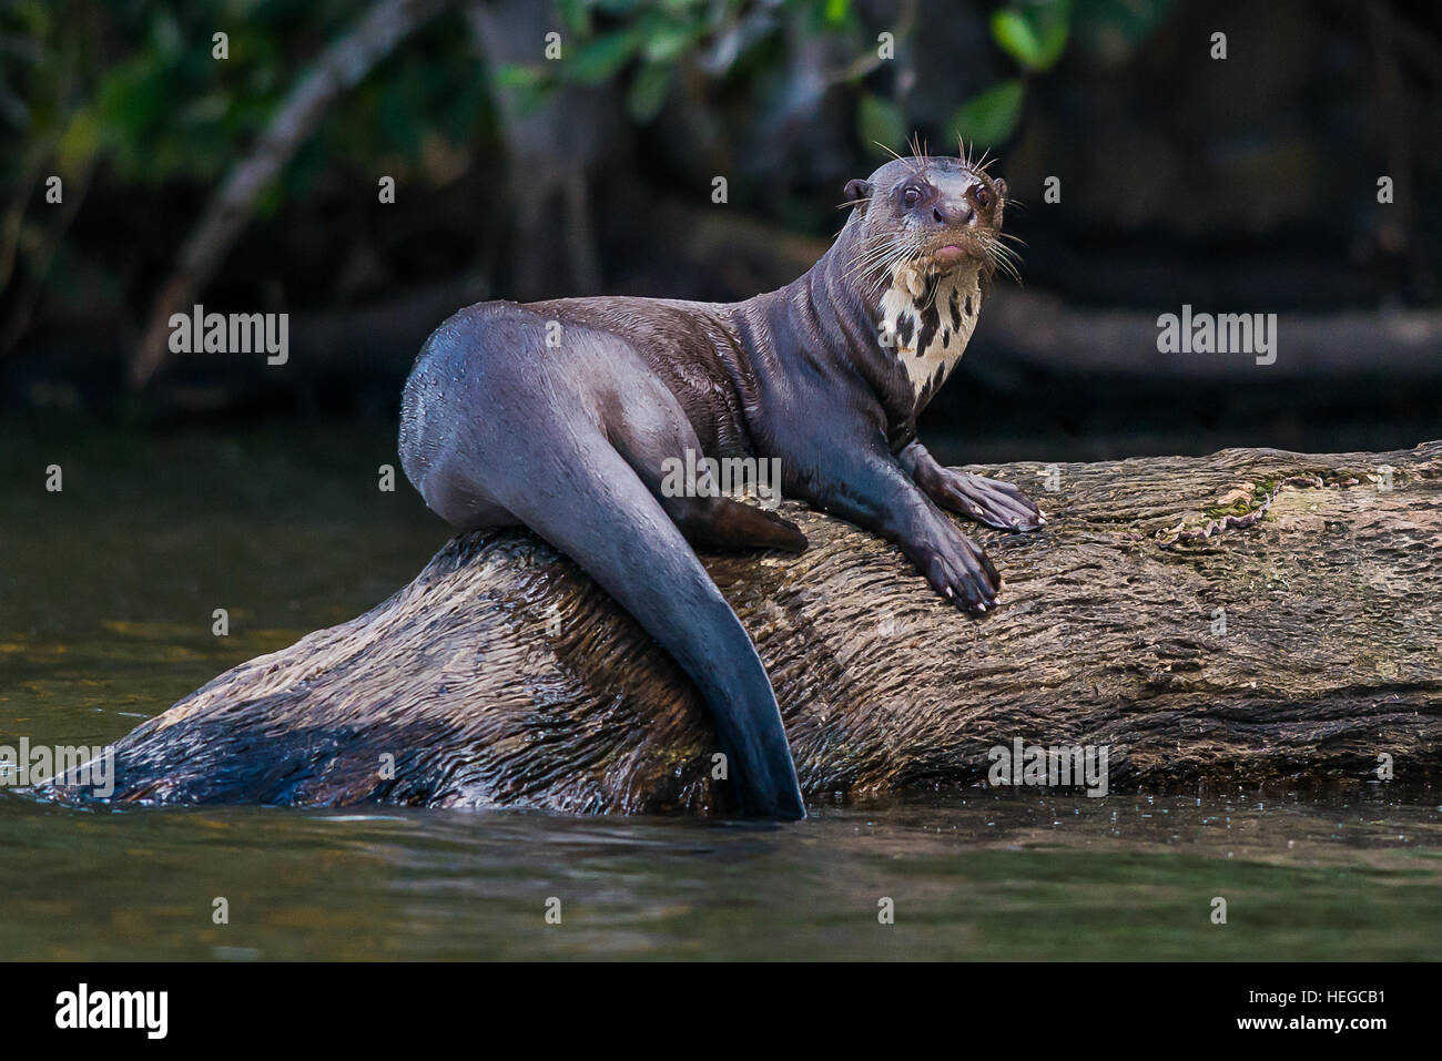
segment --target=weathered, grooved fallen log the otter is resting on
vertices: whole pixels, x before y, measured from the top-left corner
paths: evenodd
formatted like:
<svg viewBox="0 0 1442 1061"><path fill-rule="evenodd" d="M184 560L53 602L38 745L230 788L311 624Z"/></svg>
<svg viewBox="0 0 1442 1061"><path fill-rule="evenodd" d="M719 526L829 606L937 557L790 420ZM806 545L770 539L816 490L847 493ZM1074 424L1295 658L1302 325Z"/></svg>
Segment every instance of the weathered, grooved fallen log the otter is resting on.
<svg viewBox="0 0 1442 1061"><path fill-rule="evenodd" d="M1399 781L1442 778L1442 441L973 470L1050 516L968 525L1005 578L979 621L795 505L805 555L707 558L810 800L982 783L1015 738L1109 747L1113 790L1360 783L1381 755ZM715 750L629 616L545 543L492 532L141 724L114 799L724 810Z"/></svg>

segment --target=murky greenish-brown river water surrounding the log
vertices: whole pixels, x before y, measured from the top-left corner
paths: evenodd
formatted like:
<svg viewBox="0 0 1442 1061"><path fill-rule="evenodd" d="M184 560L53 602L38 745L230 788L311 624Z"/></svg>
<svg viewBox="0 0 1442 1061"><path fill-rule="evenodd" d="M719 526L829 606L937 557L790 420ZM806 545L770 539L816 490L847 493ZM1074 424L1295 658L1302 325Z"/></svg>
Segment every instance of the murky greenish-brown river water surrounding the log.
<svg viewBox="0 0 1442 1061"><path fill-rule="evenodd" d="M4 431L0 745L112 741L447 538L378 489L384 431ZM1438 959L1439 804L963 790L764 826L0 791L0 959Z"/></svg>

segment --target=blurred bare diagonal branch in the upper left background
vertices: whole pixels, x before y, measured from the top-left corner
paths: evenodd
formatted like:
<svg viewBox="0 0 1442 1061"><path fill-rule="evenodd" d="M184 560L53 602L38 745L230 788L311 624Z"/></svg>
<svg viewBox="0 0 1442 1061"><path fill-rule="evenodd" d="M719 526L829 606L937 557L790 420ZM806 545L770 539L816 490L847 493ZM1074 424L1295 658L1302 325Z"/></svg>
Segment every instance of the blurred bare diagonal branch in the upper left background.
<svg viewBox="0 0 1442 1061"><path fill-rule="evenodd" d="M280 105L255 147L231 169L180 249L176 270L160 287L131 360L130 381L136 389L154 376L169 353L170 314L193 304L249 222L255 199L314 133L336 98L359 84L407 36L448 4L450 0L379 0L316 59Z"/></svg>

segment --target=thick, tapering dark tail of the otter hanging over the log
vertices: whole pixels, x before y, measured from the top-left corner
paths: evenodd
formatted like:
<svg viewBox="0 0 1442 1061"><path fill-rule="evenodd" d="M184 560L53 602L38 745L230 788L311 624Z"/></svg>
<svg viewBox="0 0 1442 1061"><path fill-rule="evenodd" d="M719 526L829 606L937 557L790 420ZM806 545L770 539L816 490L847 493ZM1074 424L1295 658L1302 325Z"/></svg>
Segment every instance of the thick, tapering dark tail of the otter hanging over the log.
<svg viewBox="0 0 1442 1061"><path fill-rule="evenodd" d="M512 479L506 496L496 484L492 493L600 582L691 675L711 708L743 813L805 817L766 667L645 483L598 432L567 458L531 453L519 466L532 470L529 489Z"/></svg>

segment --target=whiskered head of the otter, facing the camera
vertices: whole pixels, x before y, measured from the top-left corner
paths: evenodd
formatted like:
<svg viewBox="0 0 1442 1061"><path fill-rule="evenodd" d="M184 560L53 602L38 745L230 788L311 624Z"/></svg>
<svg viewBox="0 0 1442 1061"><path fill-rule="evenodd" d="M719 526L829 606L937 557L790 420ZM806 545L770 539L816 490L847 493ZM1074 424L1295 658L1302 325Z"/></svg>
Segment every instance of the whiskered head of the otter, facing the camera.
<svg viewBox="0 0 1442 1061"><path fill-rule="evenodd" d="M865 180L848 182L846 199L854 206L846 226L857 229L851 268L858 278L1015 272L1001 231L1007 182L986 173L985 163L895 159Z"/></svg>

